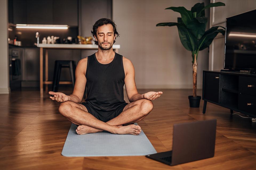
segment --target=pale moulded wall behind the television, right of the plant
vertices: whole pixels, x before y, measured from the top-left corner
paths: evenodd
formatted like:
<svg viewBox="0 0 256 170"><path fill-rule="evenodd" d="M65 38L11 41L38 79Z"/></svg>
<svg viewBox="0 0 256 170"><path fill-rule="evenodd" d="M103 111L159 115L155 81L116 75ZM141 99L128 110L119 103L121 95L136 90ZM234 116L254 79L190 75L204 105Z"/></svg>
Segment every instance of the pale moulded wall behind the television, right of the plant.
<svg viewBox="0 0 256 170"><path fill-rule="evenodd" d="M226 6L211 8L210 27L217 25L226 27L226 18L256 9L254 0L211 0L211 2L223 2ZM209 70L224 68L224 47L225 36L219 33L210 45Z"/></svg>

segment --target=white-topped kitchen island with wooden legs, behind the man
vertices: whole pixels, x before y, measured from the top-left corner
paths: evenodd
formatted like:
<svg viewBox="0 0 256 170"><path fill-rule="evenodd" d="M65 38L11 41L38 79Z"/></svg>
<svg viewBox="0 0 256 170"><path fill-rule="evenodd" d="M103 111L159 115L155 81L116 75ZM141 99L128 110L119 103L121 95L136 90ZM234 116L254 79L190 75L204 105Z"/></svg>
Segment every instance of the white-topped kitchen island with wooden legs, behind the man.
<svg viewBox="0 0 256 170"><path fill-rule="evenodd" d="M40 97L43 97L43 84L45 86L45 92L48 94L48 84L52 84L52 81L48 81L48 49L83 49L92 50L98 49L98 45L93 44L38 44L40 48ZM43 81L43 49L45 49L45 81ZM120 45L113 45L114 52L118 53ZM72 84L71 81L60 81L59 84Z"/></svg>

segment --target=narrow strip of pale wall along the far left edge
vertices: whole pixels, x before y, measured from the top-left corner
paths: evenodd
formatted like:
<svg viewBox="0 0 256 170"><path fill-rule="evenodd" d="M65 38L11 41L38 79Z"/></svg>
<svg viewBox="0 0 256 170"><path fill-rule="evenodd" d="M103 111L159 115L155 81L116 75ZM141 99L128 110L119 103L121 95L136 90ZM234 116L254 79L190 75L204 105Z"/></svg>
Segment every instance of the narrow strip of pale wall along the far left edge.
<svg viewBox="0 0 256 170"><path fill-rule="evenodd" d="M8 61L8 5L7 0L0 1L0 94L9 94Z"/></svg>

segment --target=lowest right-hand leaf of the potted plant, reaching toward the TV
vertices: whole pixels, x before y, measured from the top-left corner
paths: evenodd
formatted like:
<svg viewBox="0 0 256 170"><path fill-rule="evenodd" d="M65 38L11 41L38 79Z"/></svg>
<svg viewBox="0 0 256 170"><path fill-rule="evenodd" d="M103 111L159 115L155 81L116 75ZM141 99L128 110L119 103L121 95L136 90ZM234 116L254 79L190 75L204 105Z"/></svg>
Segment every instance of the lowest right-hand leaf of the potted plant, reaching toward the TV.
<svg viewBox="0 0 256 170"><path fill-rule="evenodd" d="M221 27L221 26L210 28L201 37L201 39L198 41L198 48L200 51L209 47L213 42L213 39L218 35L218 33L222 33L222 35L225 35L225 29L218 29L218 27Z"/></svg>

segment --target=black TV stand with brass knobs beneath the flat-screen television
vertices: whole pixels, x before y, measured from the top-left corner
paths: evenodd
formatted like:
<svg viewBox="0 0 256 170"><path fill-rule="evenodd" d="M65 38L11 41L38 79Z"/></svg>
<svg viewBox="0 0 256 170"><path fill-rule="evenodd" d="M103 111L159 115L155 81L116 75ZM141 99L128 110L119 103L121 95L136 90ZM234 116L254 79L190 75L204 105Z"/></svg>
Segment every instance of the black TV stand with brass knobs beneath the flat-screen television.
<svg viewBox="0 0 256 170"><path fill-rule="evenodd" d="M256 117L256 75L249 72L203 71L203 113L207 101Z"/></svg>

